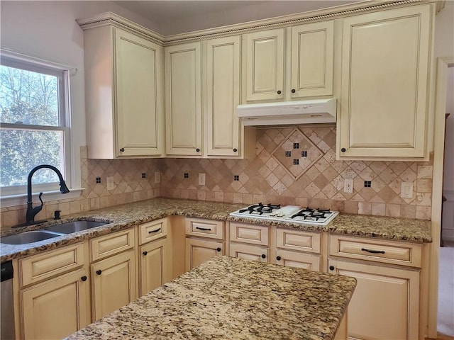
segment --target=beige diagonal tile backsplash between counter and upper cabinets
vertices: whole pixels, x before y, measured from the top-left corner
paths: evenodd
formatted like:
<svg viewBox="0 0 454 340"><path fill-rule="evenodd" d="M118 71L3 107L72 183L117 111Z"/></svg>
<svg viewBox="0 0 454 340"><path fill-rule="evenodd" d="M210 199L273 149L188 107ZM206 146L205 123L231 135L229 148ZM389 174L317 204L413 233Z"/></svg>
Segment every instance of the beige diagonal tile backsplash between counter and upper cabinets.
<svg viewBox="0 0 454 340"><path fill-rule="evenodd" d="M431 219L433 157L429 162L336 161L336 128L267 128L257 133L255 159L87 159L81 148L79 198L45 203L52 218L155 197L331 208L364 215ZM155 172L160 183L155 183ZM145 178L144 175L145 174ZM199 185L199 174L206 174ZM108 190L106 179L113 177ZM99 178L101 183L96 183ZM353 193L343 191L353 180ZM365 185L370 182L370 186ZM401 198L402 182L413 183ZM25 222L26 205L1 208L1 227Z"/></svg>

